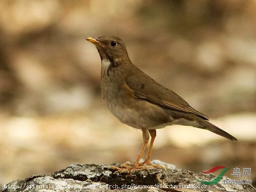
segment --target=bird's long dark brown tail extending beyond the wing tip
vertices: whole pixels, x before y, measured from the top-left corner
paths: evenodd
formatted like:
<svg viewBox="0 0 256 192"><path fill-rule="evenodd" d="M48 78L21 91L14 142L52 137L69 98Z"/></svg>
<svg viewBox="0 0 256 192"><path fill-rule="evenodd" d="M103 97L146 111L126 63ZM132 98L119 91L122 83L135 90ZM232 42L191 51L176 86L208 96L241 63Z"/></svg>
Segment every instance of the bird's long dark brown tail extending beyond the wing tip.
<svg viewBox="0 0 256 192"><path fill-rule="evenodd" d="M209 121L206 121L200 117L198 117L197 119L197 122L200 124L198 126L195 126L195 127L198 127L198 128L201 128L201 129L206 129L208 131L211 131L211 132L214 132L220 136L223 136L233 142L236 142L238 141L237 138L233 137L231 134L223 131L222 129L219 129L219 127L216 127L215 125L213 125L212 123L210 123Z"/></svg>

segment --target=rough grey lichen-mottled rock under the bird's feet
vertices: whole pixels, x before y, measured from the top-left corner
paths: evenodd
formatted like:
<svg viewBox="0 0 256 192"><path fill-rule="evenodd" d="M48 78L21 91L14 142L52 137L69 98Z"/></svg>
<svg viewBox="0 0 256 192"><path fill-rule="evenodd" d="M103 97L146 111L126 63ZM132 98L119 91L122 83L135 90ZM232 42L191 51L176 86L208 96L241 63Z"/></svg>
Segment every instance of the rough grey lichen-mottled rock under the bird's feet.
<svg viewBox="0 0 256 192"><path fill-rule="evenodd" d="M80 165L69 167L46 175L32 175L2 187L3 192L255 192L250 184L224 184L223 177L218 184L204 185L199 180L212 180L212 174L193 173L177 169L174 165L152 161L164 165L163 169L142 169L117 171L112 165ZM0 190L1 191L1 190Z"/></svg>

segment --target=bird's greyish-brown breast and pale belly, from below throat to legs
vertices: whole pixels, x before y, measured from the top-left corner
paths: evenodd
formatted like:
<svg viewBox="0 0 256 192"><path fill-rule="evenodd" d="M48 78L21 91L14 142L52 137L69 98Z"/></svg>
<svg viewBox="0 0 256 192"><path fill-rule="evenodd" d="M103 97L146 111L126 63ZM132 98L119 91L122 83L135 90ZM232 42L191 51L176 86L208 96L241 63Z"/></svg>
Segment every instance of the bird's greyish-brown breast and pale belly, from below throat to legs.
<svg viewBox="0 0 256 192"><path fill-rule="evenodd" d="M171 125L168 109L135 98L130 88L120 79L122 74L114 72L114 69L108 73L103 66L101 91L108 109L119 121L136 129L159 129Z"/></svg>

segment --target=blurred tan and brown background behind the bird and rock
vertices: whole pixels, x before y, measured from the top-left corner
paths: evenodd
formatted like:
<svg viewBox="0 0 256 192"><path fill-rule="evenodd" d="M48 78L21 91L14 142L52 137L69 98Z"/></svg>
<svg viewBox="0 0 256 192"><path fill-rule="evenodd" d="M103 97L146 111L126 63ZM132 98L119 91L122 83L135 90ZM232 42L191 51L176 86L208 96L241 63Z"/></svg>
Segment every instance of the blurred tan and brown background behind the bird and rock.
<svg viewBox="0 0 256 192"><path fill-rule="evenodd" d="M239 139L166 127L151 159L231 167L227 177L251 168L236 179L255 186L255 0L0 1L1 185L71 163L135 161L141 131L106 108L100 57L85 40L101 35L123 39L135 65Z"/></svg>

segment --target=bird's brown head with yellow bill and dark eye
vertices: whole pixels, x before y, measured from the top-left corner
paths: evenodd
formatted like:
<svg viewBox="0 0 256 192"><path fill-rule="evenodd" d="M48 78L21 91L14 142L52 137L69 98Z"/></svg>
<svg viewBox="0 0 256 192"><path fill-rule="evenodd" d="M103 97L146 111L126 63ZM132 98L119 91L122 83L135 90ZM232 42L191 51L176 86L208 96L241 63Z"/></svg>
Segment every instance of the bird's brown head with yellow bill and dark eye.
<svg viewBox="0 0 256 192"><path fill-rule="evenodd" d="M101 60L108 60L116 64L124 60L130 61L124 42L116 36L88 37L86 40L96 46Z"/></svg>

